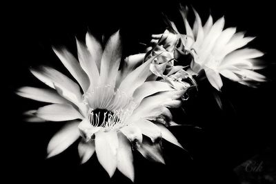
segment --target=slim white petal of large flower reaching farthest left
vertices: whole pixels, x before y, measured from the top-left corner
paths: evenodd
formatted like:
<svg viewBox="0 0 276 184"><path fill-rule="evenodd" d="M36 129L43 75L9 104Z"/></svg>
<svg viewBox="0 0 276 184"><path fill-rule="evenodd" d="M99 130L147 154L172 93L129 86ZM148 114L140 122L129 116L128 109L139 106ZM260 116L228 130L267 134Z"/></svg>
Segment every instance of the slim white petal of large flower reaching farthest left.
<svg viewBox="0 0 276 184"><path fill-rule="evenodd" d="M33 99L35 101L43 101L48 103L67 103L66 99L59 96L57 92L49 89L32 88L32 87L22 87L19 88L17 94L28 99Z"/></svg>

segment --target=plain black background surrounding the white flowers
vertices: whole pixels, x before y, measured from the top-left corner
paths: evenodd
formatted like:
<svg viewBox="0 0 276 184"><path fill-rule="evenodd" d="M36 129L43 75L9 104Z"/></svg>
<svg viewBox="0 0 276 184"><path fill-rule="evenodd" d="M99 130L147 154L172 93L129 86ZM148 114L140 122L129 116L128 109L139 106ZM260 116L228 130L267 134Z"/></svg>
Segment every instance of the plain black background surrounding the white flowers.
<svg viewBox="0 0 276 184"><path fill-rule="evenodd" d="M224 111L213 99L212 88L203 81L199 94L185 105L186 114L174 112L175 121L191 126L171 127L183 150L163 142L166 165L152 163L139 153L135 156L135 183L273 183L275 177L275 16L269 1L181 1L192 5L203 22L211 12L214 19L226 18L226 27L237 26L248 36L257 38L250 47L266 52L263 57L268 68L262 70L270 81L258 89L232 83L224 79L220 94ZM83 40L89 29L97 37L107 37L121 29L124 55L143 49L139 43L148 43L151 34L164 32L162 14L170 17L183 30L178 12L179 1L151 1L137 3L14 3L4 15L7 28L4 39L7 57L2 69L3 156L8 181L44 181L78 183L131 183L116 171L110 179L97 158L79 165L77 144L46 160L46 147L51 136L63 123L26 123L22 112L37 108L43 103L23 99L14 91L23 86L45 87L29 72L29 68L46 64L68 74L51 50L51 45L66 45L76 54L75 37ZM7 126L7 127L6 127ZM254 157L255 156L255 157ZM244 174L241 165L252 158L264 165L261 172ZM191 159L193 157L193 159ZM235 170L239 166L239 170ZM242 169L241 169L242 168ZM274 174L274 176L273 176ZM274 178L275 182L275 178ZM10 183L10 182L8 182Z"/></svg>

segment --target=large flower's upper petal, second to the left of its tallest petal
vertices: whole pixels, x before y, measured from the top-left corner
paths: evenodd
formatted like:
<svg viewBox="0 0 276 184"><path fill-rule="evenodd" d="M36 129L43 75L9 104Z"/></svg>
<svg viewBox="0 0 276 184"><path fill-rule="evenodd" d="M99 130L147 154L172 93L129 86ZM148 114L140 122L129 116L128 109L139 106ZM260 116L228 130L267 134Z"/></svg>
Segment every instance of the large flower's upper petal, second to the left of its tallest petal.
<svg viewBox="0 0 276 184"><path fill-rule="evenodd" d="M86 45L77 40L77 51L81 68L88 74L90 88L97 86L99 82L99 70L97 68L95 55L90 54Z"/></svg>

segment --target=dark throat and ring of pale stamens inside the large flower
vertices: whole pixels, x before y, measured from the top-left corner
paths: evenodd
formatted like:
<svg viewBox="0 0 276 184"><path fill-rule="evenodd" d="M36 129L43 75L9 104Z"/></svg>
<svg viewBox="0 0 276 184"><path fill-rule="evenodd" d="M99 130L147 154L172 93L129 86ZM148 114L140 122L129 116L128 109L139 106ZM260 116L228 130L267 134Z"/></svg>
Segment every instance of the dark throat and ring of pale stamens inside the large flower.
<svg viewBox="0 0 276 184"><path fill-rule="evenodd" d="M109 85L93 88L83 96L89 107L88 121L102 131L118 130L128 124L127 119L136 108L135 102L126 93Z"/></svg>

